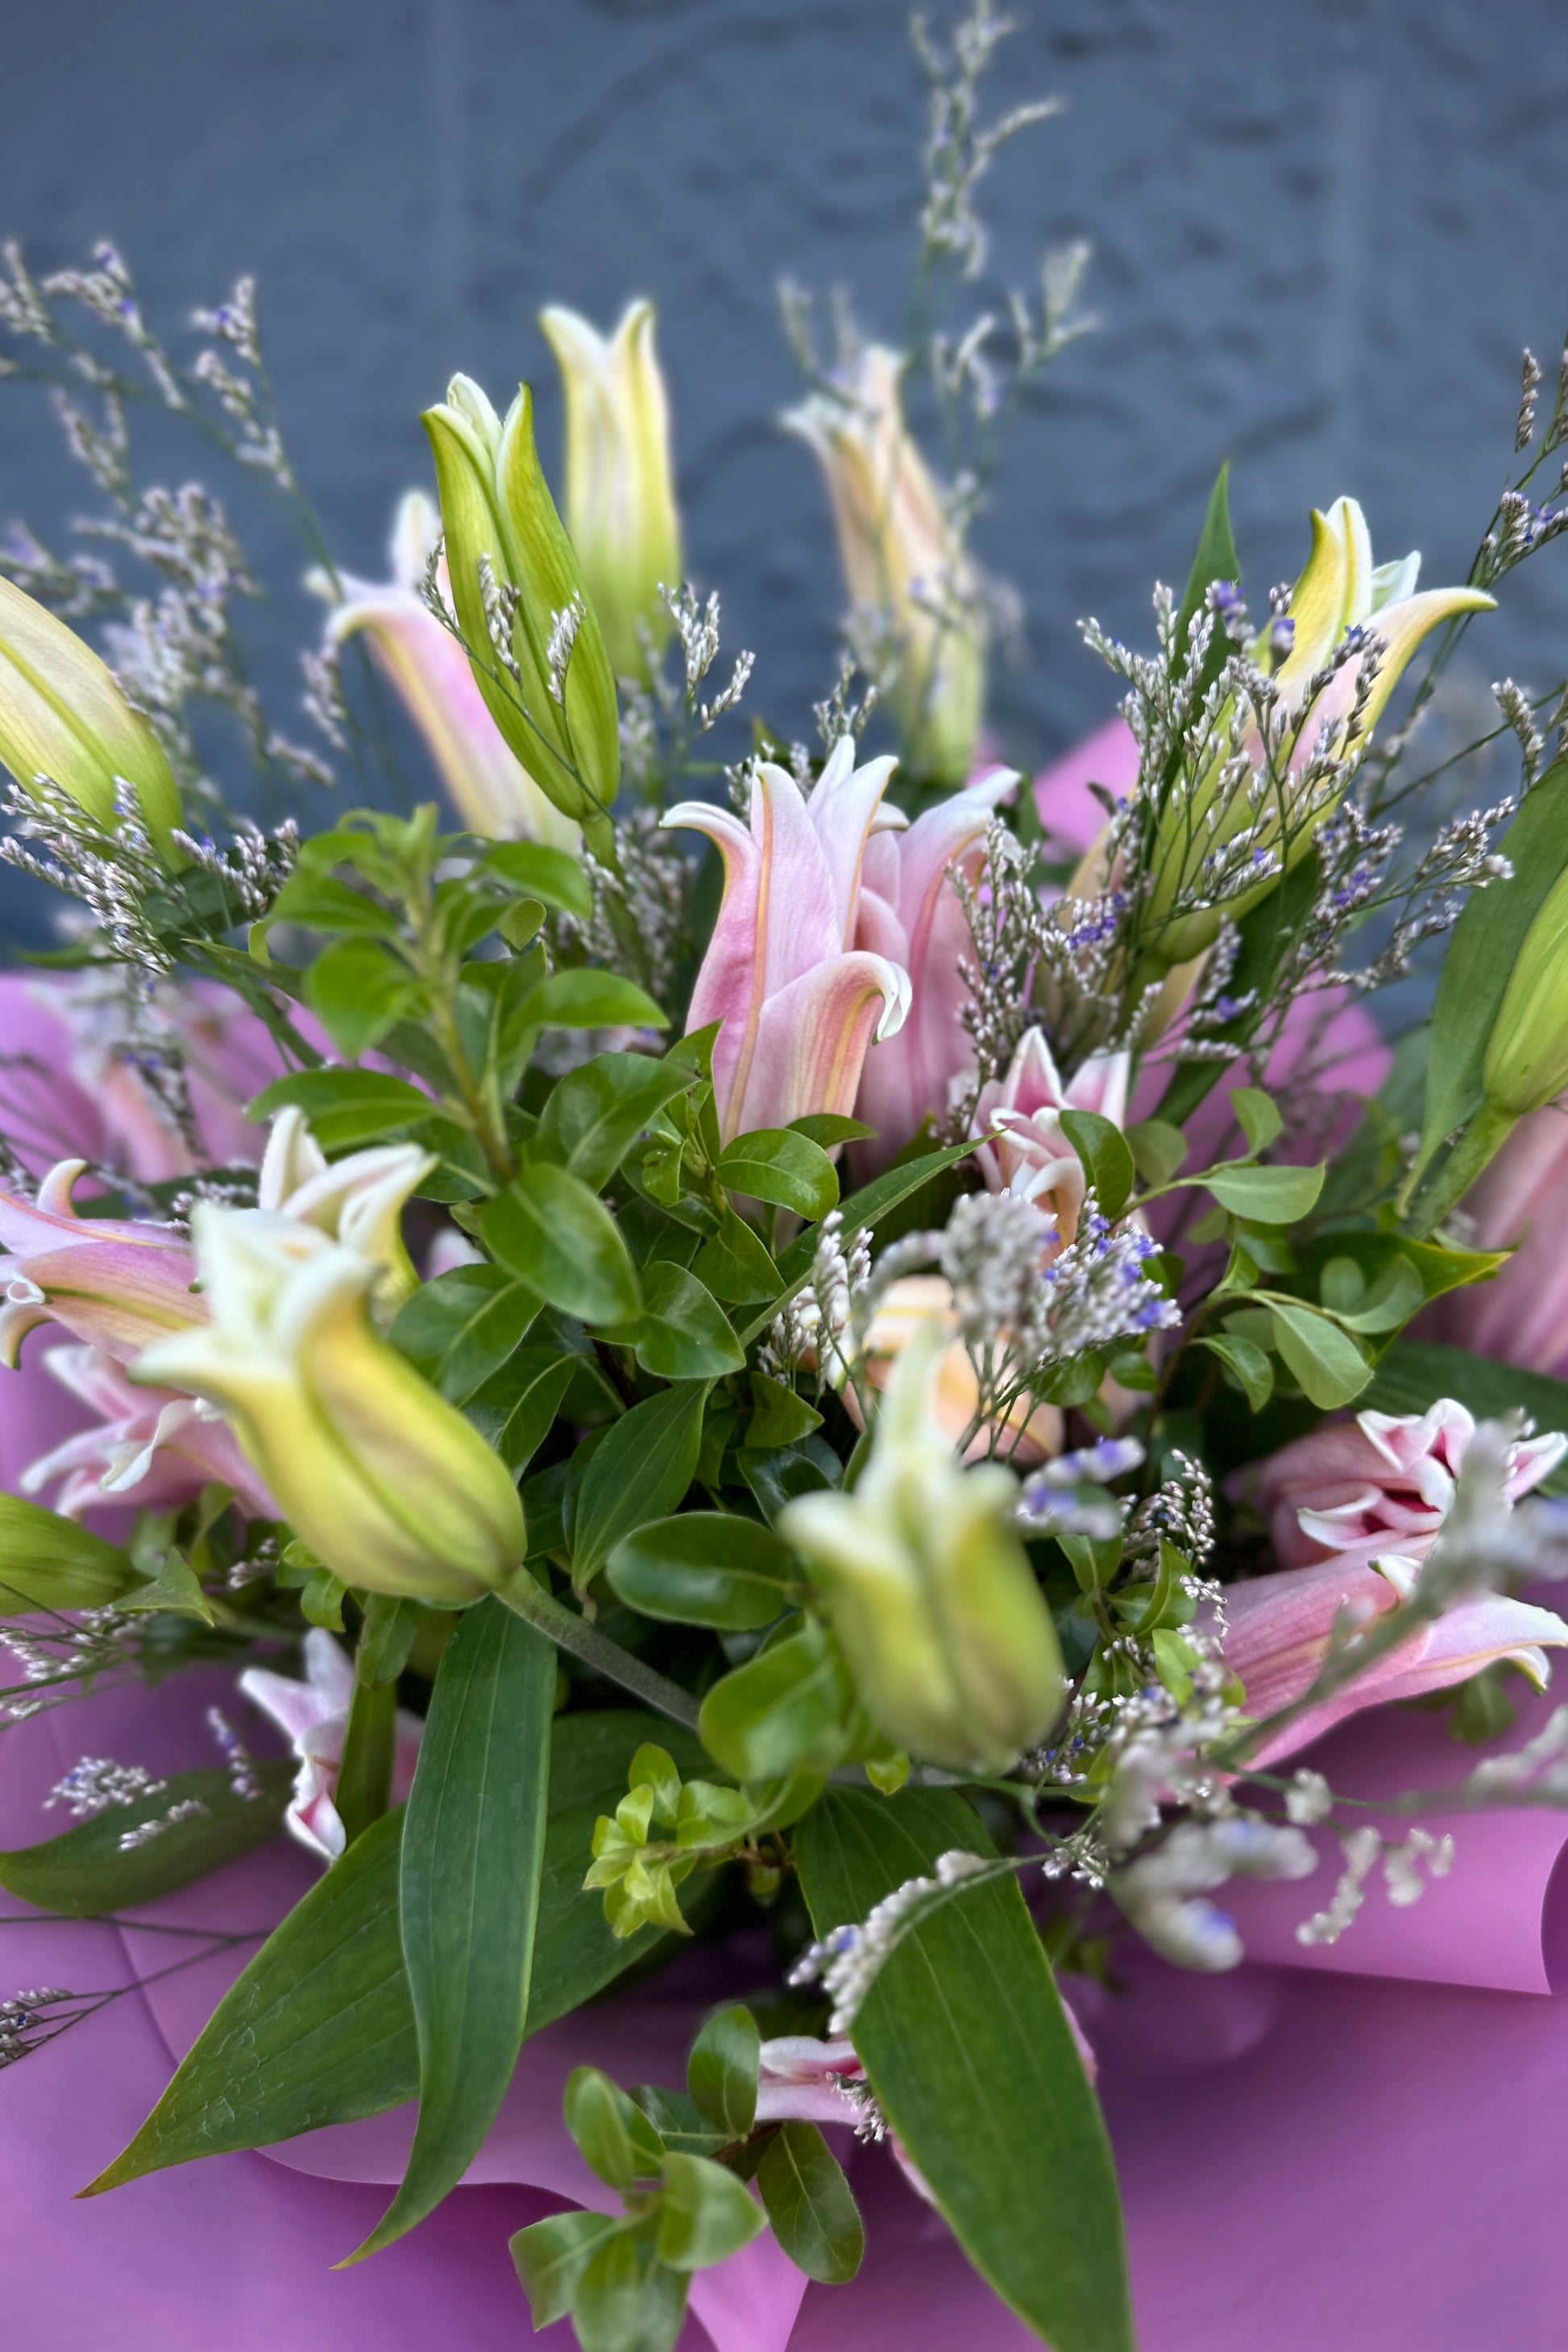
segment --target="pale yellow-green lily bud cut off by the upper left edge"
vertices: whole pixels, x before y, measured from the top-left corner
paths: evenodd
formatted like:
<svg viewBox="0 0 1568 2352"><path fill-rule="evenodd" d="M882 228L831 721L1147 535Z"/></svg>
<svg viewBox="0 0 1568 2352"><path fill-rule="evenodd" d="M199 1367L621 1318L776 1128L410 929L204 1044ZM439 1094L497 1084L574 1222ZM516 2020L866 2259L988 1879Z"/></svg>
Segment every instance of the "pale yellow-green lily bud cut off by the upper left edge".
<svg viewBox="0 0 1568 2352"><path fill-rule="evenodd" d="M183 863L169 842L181 807L162 743L94 649L7 579L0 579L0 760L24 793L49 776L101 826L115 816L118 786L134 786L160 854Z"/></svg>

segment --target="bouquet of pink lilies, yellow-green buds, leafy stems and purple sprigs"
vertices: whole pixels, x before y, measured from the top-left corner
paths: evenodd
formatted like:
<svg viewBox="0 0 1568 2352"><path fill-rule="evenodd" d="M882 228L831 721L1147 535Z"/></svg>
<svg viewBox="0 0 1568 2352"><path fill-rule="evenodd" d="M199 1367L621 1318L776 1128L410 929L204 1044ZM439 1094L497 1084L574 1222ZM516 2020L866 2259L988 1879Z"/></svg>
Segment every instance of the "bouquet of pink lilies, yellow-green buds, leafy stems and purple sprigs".
<svg viewBox="0 0 1568 2352"><path fill-rule="evenodd" d="M788 299L849 595L818 743L684 583L649 303L541 318L559 508L529 386L456 376L369 583L247 282L186 362L115 249L7 249L7 372L99 513L0 579L2 847L71 903L0 983L0 1926L56 1971L0 2065L136 1994L179 2065L125 2145L82 2124L85 2194L223 2157L221 2216L268 2150L282 2232L280 2180L381 2183L277 2237L381 2258L331 2317L277 2286L292 2340L428 2333L386 2249L423 2223L451 2279L491 2183L473 2343L520 2293L583 2352L907 2343L940 2270L945 2333L1117 2352L1100 2091L1135 2253L1161 2030L1309 2107L1194 1985L1559 1966L1568 1710L1519 1686L1568 1642L1528 1597L1568 1573L1563 708L1495 689L1479 814L1420 746L1568 524L1568 360L1544 409L1526 355L1462 586L1340 496L1248 607L1220 475L1150 647L1086 623L1121 715L1030 781L971 527L1086 256L961 318L1048 113L987 118L1001 33L919 33L914 350L837 315L820 355ZM223 503L141 480L146 402L299 513L310 748Z"/></svg>

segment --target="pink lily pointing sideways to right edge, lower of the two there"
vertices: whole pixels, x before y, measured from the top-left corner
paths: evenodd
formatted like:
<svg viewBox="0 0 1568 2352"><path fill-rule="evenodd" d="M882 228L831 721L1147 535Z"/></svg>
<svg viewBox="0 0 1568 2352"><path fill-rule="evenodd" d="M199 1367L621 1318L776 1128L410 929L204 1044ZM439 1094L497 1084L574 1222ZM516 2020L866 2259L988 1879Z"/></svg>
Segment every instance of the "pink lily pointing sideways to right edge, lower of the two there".
<svg viewBox="0 0 1568 2352"><path fill-rule="evenodd" d="M1267 1717L1298 1700L1312 1686L1342 1611L1349 1609L1366 1621L1392 1609L1408 1592L1418 1562L1394 1555L1385 1557L1382 1569L1385 1573L1378 1573L1359 1557L1324 1559L1309 1569L1284 1569L1279 1576L1258 1576L1253 1583L1229 1588L1225 1663L1246 1686L1248 1715ZM1361 1708L1446 1691L1455 1682L1469 1682L1486 1665L1516 1665L1544 1689L1552 1675L1547 1646L1563 1644L1568 1625L1549 1609L1509 1599L1505 1592L1469 1595L1378 1658L1354 1682L1284 1724L1248 1762L1274 1764L1321 1738L1347 1715L1359 1715Z"/></svg>

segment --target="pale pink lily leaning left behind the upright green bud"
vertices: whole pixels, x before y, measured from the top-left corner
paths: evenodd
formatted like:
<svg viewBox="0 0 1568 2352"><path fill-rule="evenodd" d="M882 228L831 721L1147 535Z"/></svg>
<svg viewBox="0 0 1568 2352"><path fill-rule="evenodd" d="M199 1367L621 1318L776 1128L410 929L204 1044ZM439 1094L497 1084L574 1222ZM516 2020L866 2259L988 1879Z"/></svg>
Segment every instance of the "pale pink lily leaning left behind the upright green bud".
<svg viewBox="0 0 1568 2352"><path fill-rule="evenodd" d="M423 492L411 489L397 506L393 524L390 581L360 581L341 574L331 581L313 572L308 586L331 600L327 637L341 644L355 630L367 630L376 659L409 717L430 746L465 826L489 840L552 842L576 849L578 828L538 790L484 708L468 654L418 600L430 548L440 536L440 515ZM435 569L437 586L451 607L447 562Z"/></svg>

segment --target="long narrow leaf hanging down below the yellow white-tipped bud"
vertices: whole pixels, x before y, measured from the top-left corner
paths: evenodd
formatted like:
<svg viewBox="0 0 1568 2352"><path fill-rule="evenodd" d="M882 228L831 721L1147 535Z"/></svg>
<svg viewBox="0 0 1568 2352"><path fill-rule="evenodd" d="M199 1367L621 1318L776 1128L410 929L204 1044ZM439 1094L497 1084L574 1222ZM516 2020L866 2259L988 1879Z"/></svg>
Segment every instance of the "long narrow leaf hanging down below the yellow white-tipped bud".
<svg viewBox="0 0 1568 2352"><path fill-rule="evenodd" d="M402 1952L418 2032L418 2124L360 2256L456 2187L496 2119L529 2013L545 1853L555 1646L484 1599L442 1651L404 1809Z"/></svg>

